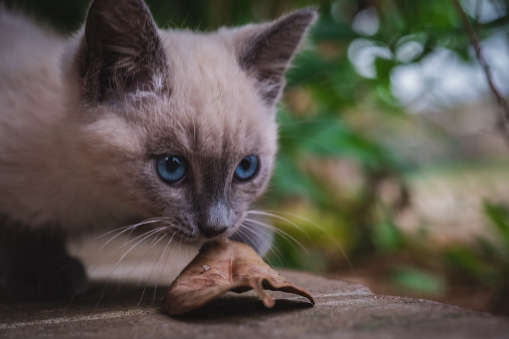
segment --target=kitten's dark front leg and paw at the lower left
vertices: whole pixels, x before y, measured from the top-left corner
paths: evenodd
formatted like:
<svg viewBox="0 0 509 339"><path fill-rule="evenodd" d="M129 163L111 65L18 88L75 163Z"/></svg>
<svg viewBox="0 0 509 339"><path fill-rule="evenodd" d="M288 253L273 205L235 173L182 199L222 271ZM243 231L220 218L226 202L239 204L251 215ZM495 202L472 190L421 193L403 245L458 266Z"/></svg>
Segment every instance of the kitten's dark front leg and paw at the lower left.
<svg viewBox="0 0 509 339"><path fill-rule="evenodd" d="M70 299L85 289L86 271L57 228L32 229L0 216L0 279L18 301Z"/></svg>

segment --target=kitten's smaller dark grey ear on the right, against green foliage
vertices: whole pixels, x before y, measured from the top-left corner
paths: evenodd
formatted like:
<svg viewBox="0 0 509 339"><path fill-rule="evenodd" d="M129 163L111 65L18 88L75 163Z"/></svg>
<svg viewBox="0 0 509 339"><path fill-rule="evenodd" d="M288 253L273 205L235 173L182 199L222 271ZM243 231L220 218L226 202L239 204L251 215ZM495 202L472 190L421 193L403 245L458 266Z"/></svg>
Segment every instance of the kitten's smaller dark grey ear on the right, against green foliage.
<svg viewBox="0 0 509 339"><path fill-rule="evenodd" d="M257 90L268 106L279 100L285 87L285 72L317 18L317 9L308 7L273 22L248 25L240 30L239 65L256 80Z"/></svg>

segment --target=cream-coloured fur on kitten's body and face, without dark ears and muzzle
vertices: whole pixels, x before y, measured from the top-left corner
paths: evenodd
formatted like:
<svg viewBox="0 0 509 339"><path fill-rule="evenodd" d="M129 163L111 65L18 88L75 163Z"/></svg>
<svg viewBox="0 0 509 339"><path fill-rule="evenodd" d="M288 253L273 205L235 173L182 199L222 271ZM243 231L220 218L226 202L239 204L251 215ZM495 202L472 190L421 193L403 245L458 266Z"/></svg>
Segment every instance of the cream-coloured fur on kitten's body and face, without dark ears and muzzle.
<svg viewBox="0 0 509 339"><path fill-rule="evenodd" d="M199 177L208 171L204 157L219 159L224 145L237 157L225 178L248 154L263 165L256 189L231 188L252 195L239 203L245 210L266 187L277 148L275 106L260 99L237 60L250 32L263 27L159 31L171 95L90 105L77 75L83 30L63 38L0 10L0 214L31 227L81 231L175 213L178 205L164 202L182 192L164 183L149 192L143 184L157 182L150 156L185 154ZM196 194L213 185L197 182Z"/></svg>

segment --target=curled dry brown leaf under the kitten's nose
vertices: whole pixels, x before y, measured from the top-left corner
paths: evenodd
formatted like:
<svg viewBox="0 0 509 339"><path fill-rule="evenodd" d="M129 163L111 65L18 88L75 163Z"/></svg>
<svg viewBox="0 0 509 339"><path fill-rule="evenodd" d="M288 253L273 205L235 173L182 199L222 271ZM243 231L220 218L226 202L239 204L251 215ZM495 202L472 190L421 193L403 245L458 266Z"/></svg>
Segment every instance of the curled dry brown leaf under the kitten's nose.
<svg viewBox="0 0 509 339"><path fill-rule="evenodd" d="M312 295L289 283L251 247L228 239L203 245L162 301L169 314L176 315L200 308L228 291L243 293L251 289L269 308L275 301L265 290L298 294L315 304Z"/></svg>

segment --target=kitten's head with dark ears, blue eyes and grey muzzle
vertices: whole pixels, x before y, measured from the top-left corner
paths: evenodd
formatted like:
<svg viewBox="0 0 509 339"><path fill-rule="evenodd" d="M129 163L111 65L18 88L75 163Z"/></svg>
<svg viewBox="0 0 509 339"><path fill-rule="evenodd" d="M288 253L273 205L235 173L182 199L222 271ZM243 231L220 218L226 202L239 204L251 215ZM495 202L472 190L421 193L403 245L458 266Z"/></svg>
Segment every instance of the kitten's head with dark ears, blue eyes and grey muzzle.
<svg viewBox="0 0 509 339"><path fill-rule="evenodd" d="M231 235L271 176L275 105L316 18L162 31L143 0L95 0L73 59L87 175L185 241Z"/></svg>

